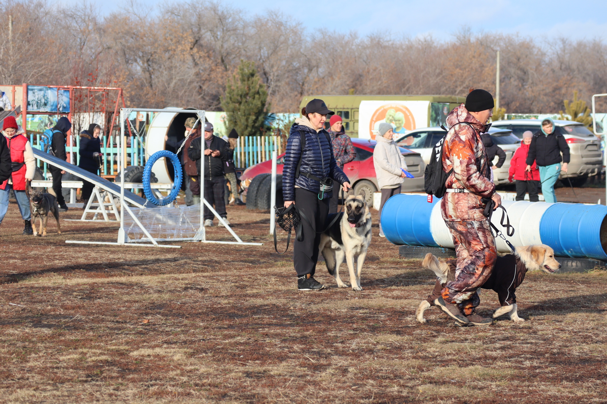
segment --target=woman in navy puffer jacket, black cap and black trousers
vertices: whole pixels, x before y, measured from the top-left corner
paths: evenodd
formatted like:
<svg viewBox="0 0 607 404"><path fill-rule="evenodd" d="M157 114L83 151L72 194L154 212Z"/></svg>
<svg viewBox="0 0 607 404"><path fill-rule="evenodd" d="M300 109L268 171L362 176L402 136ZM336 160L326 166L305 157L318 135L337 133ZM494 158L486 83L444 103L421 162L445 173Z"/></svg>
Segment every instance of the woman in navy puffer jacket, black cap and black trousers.
<svg viewBox="0 0 607 404"><path fill-rule="evenodd" d="M325 286L314 279L320 233L327 225L329 200L333 192L343 185L350 188L348 177L339 168L333 156L333 146L327 131L323 129L327 114L333 114L320 99L313 99L302 109L302 118L297 118L291 127L285 151L285 165L282 170L282 195L285 207L296 204L297 209L313 222L310 225L302 218L302 241L293 243L293 261L297 273L299 290L320 290ZM305 147L302 150L302 136ZM299 176L297 176L297 165ZM333 190L320 190L319 179L333 179Z"/></svg>

